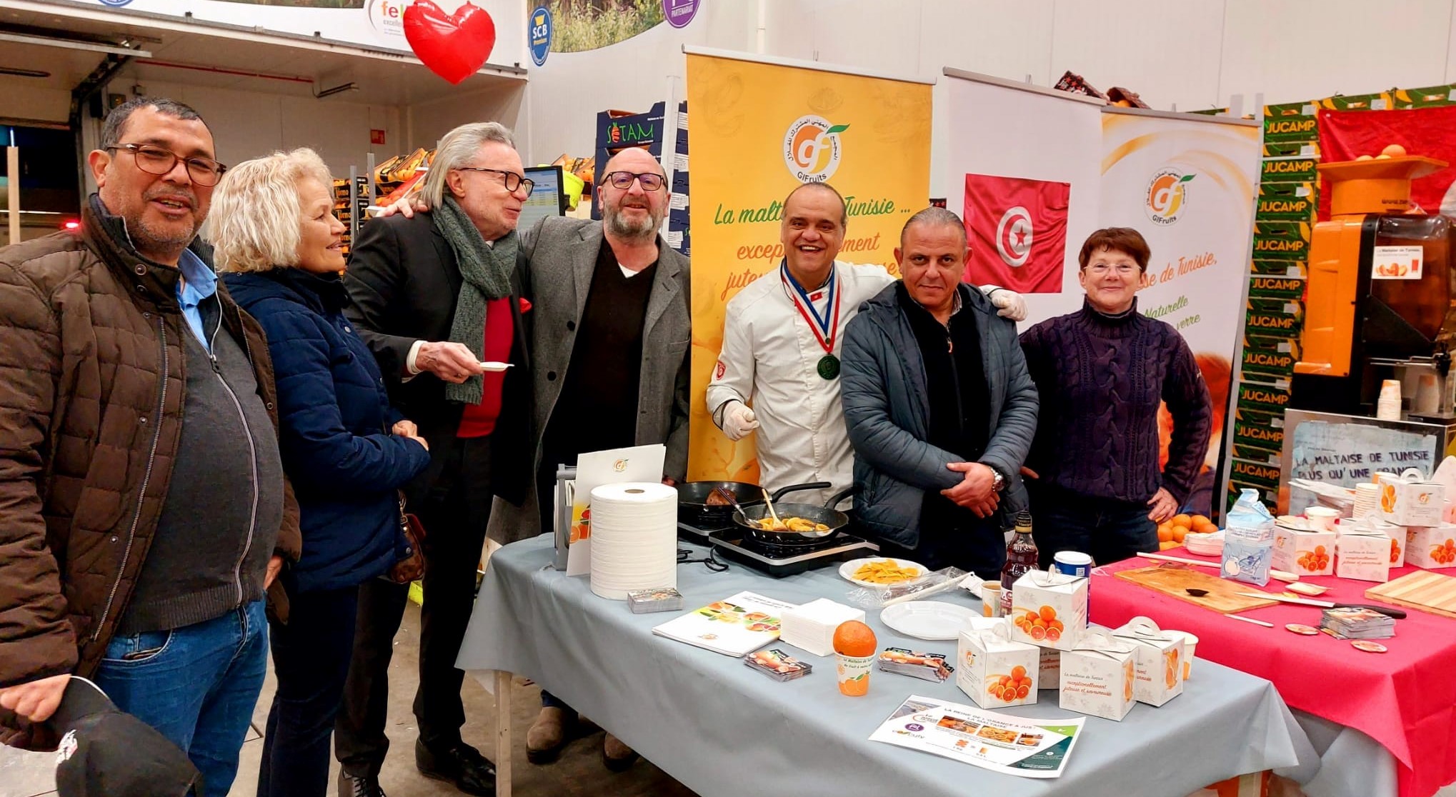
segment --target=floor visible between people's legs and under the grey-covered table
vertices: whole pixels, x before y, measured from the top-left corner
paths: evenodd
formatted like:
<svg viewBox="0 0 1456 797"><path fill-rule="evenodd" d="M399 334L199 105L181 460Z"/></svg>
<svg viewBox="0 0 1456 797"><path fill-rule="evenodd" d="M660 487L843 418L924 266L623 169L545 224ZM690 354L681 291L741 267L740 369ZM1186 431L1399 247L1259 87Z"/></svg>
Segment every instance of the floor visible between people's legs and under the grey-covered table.
<svg viewBox="0 0 1456 797"><path fill-rule="evenodd" d="M405 612L405 622L395 637L395 657L390 662L389 694L389 758L380 772L380 785L389 797L434 797L460 794L453 785L432 781L415 769L415 716L411 704L415 686L419 684L416 650L419 646L419 606L414 604ZM230 797L252 797L258 785L258 759L262 755L262 737L258 733L268 718L272 701L274 678L268 669L268 681L253 711L253 730L243 743L242 764ZM495 698L473 678L464 679L466 726L464 740L475 745L486 756L492 755L489 742L495 721ZM530 727L540 708L540 689L517 678L511 694L511 727L514 736L514 793L524 797L566 796L622 796L622 797L693 797L683 784L646 761L638 761L626 772L609 772L601 765L601 737L598 730L574 740L555 764L534 766L526 761L526 729ZM0 745L0 797L36 797L54 794L54 753L28 753ZM335 797L335 778L329 778L329 797Z"/></svg>

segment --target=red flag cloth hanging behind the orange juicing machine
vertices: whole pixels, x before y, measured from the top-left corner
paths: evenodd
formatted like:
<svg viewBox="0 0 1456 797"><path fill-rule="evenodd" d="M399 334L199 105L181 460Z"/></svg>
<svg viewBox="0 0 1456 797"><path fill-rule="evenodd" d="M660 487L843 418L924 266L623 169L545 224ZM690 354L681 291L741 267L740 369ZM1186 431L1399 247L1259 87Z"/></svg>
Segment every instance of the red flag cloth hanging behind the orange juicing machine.
<svg viewBox="0 0 1456 797"><path fill-rule="evenodd" d="M1386 144L1406 154L1456 163L1456 105L1404 111L1321 111L1321 161L1377 156ZM1411 180L1411 202L1427 214L1456 214L1456 169ZM1329 180L1319 185L1319 218L1329 218Z"/></svg>

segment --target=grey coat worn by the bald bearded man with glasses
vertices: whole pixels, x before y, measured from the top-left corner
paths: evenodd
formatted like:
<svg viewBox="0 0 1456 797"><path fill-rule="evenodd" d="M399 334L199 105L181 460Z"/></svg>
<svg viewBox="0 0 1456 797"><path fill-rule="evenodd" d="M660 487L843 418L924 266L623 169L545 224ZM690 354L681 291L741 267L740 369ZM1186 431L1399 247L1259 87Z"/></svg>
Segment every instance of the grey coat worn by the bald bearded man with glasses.
<svg viewBox="0 0 1456 797"><path fill-rule="evenodd" d="M533 489L515 506L495 499L488 535L514 542L542 534L534 478L542 458L542 435L577 342L577 327L587 307L597 255L606 244L600 221L547 217L521 233L521 252L531 265L531 419ZM636 445L665 444L665 476L681 481L687 474L687 390L693 321L689 313L687 257L657 240L658 263L642 323Z"/></svg>

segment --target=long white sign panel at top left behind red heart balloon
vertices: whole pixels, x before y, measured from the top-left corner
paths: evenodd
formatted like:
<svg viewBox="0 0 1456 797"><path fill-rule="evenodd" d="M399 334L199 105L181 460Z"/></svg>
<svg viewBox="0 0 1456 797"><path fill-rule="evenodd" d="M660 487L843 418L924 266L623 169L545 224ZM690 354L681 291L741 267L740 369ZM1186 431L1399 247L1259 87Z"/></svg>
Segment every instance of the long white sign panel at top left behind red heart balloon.
<svg viewBox="0 0 1456 797"><path fill-rule="evenodd" d="M520 65L526 61L526 6L513 0L470 0L491 15L495 47L488 64ZM98 0L96 7L122 13L146 12L189 22L215 22L258 29L261 33L317 36L368 49L411 52L405 41L405 9L412 0ZM454 13L463 0L435 0Z"/></svg>

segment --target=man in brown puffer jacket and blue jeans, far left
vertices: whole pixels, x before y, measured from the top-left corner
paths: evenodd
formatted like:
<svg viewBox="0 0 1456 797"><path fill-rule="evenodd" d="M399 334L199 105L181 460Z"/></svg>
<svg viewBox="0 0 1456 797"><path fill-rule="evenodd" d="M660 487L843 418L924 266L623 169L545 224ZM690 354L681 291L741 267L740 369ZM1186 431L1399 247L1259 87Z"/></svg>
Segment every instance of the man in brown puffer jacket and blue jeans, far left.
<svg viewBox="0 0 1456 797"><path fill-rule="evenodd" d="M197 112L128 102L89 163L79 234L0 250L0 721L86 676L226 794L298 557L268 345L188 249L224 170Z"/></svg>

